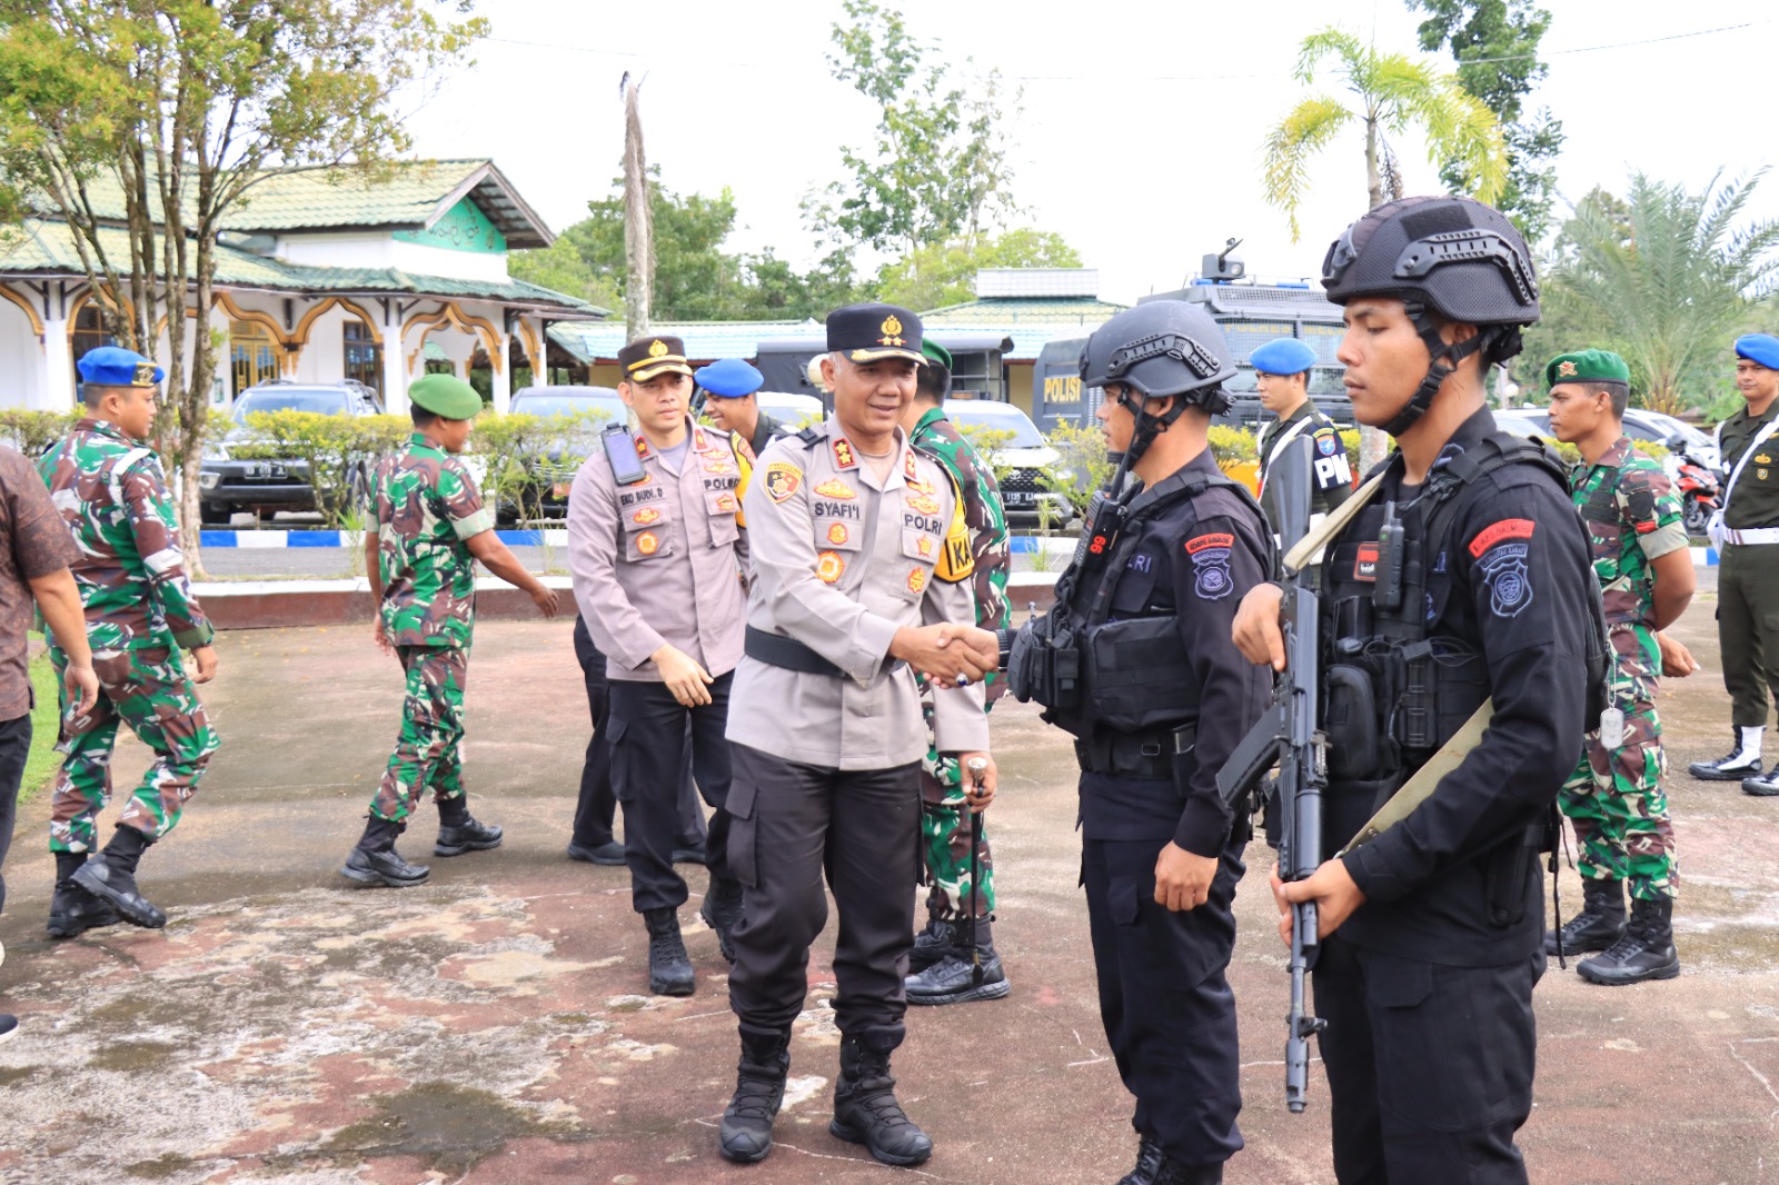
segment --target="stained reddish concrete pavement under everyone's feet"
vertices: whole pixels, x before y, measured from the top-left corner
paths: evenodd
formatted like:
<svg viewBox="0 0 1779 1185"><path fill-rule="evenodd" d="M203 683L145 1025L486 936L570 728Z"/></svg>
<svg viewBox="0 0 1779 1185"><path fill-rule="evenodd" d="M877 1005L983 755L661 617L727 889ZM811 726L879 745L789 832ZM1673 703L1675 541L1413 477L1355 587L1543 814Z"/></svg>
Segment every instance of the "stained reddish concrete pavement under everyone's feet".
<svg viewBox="0 0 1779 1185"><path fill-rule="evenodd" d="M1708 667L1663 710L1685 971L1603 989L1551 966L1537 991L1533 1181L1779 1180L1779 799L1686 779L1727 740L1711 601L1681 635ZM809 964L779 1148L715 1155L733 1085L726 964L681 911L697 995L646 995L646 934L623 868L562 858L589 735L564 623L484 623L470 667L466 774L507 827L484 854L431 859L431 811L404 840L418 890L334 874L395 737L400 678L368 626L219 639L205 692L222 747L185 822L142 863L162 932L43 934L46 799L21 808L0 918L0 1181L1105 1181L1130 1169L1130 1100L1099 1028L1076 888L1073 760L1026 705L994 712L991 815L1007 1000L913 1011L895 1059L938 1141L888 1169L827 1133L838 1034L833 925ZM144 765L119 746L116 778ZM110 813L109 813L110 815ZM1242 1128L1231 1183L1329 1181L1327 1087L1283 1101L1284 957L1251 849L1231 980L1242 1011ZM1564 909L1580 900L1562 875Z"/></svg>

